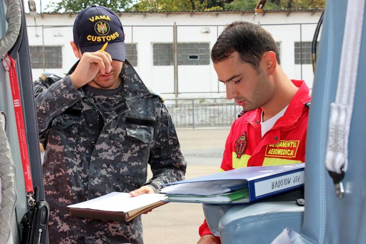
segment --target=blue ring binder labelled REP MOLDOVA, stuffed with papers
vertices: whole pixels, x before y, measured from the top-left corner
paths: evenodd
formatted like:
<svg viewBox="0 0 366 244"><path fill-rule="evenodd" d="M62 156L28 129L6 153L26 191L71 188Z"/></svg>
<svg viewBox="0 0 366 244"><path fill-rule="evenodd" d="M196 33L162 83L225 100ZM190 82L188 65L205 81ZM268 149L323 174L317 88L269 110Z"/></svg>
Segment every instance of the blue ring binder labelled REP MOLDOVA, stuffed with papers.
<svg viewBox="0 0 366 244"><path fill-rule="evenodd" d="M168 202L248 203L300 188L304 163L243 167L165 184Z"/></svg>

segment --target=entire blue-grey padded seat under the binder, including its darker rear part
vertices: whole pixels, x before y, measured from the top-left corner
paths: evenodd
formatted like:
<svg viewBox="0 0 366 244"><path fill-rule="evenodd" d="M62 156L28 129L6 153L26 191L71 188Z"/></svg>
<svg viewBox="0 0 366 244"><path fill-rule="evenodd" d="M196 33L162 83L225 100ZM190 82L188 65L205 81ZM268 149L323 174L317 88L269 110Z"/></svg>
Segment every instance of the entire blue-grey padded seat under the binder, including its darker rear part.
<svg viewBox="0 0 366 244"><path fill-rule="evenodd" d="M222 243L270 243L283 229L300 231L304 207L296 204L302 190L247 204L203 204L212 234Z"/></svg>

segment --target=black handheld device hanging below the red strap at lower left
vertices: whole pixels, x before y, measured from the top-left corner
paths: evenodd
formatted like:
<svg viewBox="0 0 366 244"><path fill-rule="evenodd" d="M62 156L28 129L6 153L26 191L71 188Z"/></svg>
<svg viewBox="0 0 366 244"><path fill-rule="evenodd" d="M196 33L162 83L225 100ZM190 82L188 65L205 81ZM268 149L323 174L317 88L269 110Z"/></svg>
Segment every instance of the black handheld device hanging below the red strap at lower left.
<svg viewBox="0 0 366 244"><path fill-rule="evenodd" d="M46 240L49 205L45 201L36 201L21 220L21 244L44 244Z"/></svg>

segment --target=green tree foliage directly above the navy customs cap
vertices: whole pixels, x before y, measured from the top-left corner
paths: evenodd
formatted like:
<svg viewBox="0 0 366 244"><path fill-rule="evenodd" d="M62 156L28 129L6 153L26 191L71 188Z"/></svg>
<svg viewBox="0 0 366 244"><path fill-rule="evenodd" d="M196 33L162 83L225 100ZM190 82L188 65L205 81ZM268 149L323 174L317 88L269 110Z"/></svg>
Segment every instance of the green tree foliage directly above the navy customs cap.
<svg viewBox="0 0 366 244"><path fill-rule="evenodd" d="M50 2L47 9L51 9L52 13L77 13L92 4L98 4L112 9L114 12L121 12L129 8L134 0L61 0L57 2Z"/></svg>

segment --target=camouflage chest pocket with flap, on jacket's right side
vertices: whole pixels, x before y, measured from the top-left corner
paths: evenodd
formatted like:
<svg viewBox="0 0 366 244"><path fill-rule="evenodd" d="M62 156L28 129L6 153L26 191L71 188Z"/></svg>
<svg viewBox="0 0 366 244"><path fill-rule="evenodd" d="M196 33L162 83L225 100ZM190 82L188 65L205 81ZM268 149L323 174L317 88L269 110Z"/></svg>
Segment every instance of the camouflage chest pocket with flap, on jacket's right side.
<svg viewBox="0 0 366 244"><path fill-rule="evenodd" d="M141 125L141 121L134 121L134 123L129 122L130 119L126 119L126 133L131 139L138 139L143 143L153 143L154 142L154 126L147 125L148 123L144 123L145 125ZM141 120L141 119L139 119ZM154 120L146 120L152 121ZM139 124L137 124L139 123Z"/></svg>

